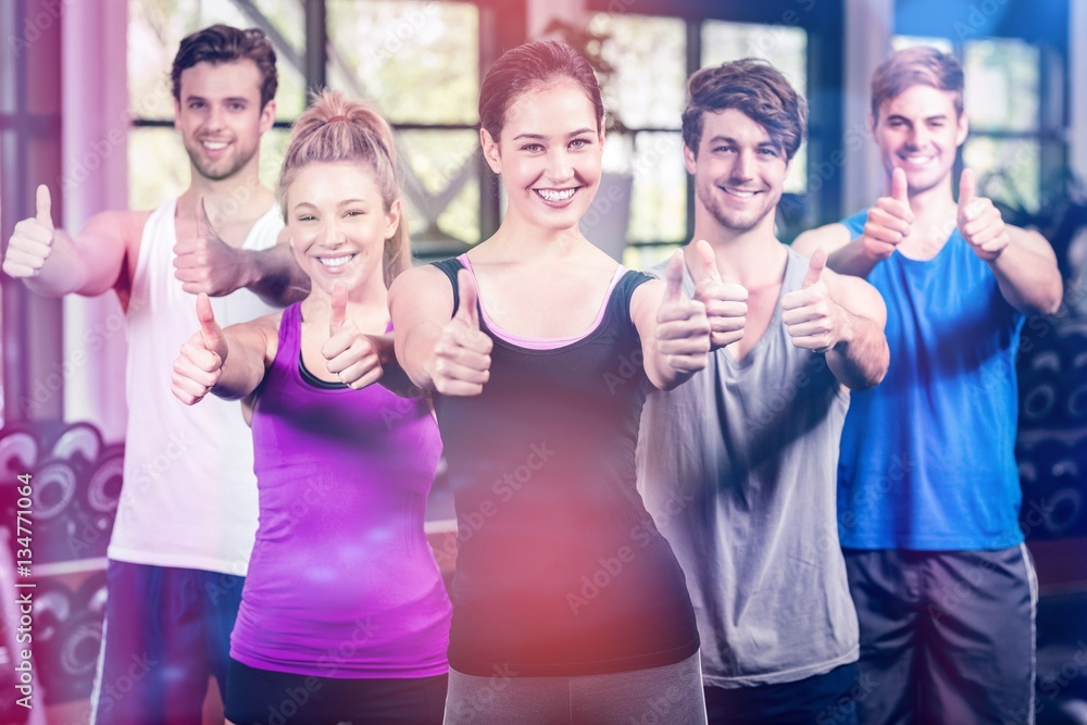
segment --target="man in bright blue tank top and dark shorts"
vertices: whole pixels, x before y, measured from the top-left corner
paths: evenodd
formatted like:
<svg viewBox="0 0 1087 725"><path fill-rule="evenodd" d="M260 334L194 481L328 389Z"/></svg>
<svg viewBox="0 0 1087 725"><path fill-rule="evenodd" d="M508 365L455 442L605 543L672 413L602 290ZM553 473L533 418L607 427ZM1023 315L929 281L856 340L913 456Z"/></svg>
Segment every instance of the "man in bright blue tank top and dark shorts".
<svg viewBox="0 0 1087 725"><path fill-rule="evenodd" d="M794 245L830 252L887 303L891 363L858 393L838 526L861 630L861 722L1030 723L1037 587L1019 527L1015 353L1062 285L1039 235L1000 217L971 170L959 62L891 55L872 79L886 195Z"/></svg>

